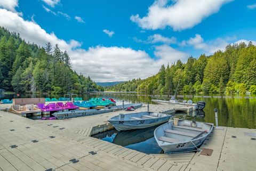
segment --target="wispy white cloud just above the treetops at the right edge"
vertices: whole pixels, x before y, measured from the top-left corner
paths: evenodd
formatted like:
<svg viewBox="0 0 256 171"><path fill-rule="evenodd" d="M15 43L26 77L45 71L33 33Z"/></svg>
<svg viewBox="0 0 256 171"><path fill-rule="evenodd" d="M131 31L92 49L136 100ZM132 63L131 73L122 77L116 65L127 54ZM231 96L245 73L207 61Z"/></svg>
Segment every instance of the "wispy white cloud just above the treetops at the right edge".
<svg viewBox="0 0 256 171"><path fill-rule="evenodd" d="M201 35L196 34L195 37L190 37L188 40L183 40L180 43L180 46L193 46L196 50L204 50L206 54L213 54L216 51L224 51L228 44L233 43L241 43L244 42L248 44L250 40L240 39L237 40L235 36L233 37L225 37L225 38L217 38L214 40L210 40L205 42ZM256 45L255 41L252 41L252 44Z"/></svg>

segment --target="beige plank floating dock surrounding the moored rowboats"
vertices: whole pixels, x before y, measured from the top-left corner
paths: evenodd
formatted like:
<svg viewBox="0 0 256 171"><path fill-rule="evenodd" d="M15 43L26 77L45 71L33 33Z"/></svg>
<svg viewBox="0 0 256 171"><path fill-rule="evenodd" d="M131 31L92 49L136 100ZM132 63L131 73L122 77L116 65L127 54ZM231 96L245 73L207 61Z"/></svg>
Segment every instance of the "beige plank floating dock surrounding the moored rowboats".
<svg viewBox="0 0 256 171"><path fill-rule="evenodd" d="M110 129L107 120L119 113L128 112L31 120L0 111L0 170L255 170L256 129L215 128L197 153L145 154L90 137Z"/></svg>

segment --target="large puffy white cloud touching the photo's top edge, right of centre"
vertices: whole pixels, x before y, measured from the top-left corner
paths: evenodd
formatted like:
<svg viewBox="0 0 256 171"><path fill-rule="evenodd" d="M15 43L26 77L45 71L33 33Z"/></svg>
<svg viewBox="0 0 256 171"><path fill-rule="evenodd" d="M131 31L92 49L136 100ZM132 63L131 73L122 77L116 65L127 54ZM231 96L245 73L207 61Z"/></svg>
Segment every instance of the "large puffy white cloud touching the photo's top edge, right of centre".
<svg viewBox="0 0 256 171"><path fill-rule="evenodd" d="M233 0L156 0L148 9L146 17L132 15L131 20L142 29L164 29L170 26L173 30L184 30L194 27L204 18L217 13L220 7Z"/></svg>

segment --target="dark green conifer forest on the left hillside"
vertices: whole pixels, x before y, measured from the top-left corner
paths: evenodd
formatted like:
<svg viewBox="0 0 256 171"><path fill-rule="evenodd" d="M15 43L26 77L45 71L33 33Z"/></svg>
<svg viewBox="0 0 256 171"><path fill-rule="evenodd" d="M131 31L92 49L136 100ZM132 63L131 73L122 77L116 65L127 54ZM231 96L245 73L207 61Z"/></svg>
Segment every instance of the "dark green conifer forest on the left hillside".
<svg viewBox="0 0 256 171"><path fill-rule="evenodd" d="M0 27L0 88L16 93L82 93L103 91L90 78L72 70L68 53L47 43L26 43Z"/></svg>

